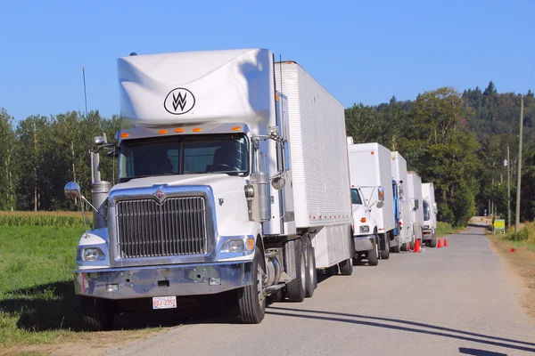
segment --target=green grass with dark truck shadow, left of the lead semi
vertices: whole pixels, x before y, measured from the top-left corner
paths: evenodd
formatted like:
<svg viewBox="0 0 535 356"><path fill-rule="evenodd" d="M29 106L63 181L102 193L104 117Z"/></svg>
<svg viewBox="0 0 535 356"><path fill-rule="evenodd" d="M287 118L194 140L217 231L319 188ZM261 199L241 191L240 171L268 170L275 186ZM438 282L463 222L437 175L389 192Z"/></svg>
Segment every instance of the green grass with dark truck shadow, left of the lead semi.
<svg viewBox="0 0 535 356"><path fill-rule="evenodd" d="M72 283L83 229L0 226L0 344L42 344L80 329Z"/></svg>

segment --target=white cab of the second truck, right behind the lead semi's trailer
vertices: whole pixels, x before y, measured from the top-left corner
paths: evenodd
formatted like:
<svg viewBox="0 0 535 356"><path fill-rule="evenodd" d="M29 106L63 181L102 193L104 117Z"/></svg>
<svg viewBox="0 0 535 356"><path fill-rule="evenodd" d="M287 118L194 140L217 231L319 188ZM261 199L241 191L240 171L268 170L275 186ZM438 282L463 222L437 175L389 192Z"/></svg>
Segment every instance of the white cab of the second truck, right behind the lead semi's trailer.
<svg viewBox="0 0 535 356"><path fill-rule="evenodd" d="M351 187L351 204L353 207L353 241L355 258L358 262L367 258L370 266L379 263L379 245L377 243L377 223L370 214L366 199L360 188Z"/></svg>

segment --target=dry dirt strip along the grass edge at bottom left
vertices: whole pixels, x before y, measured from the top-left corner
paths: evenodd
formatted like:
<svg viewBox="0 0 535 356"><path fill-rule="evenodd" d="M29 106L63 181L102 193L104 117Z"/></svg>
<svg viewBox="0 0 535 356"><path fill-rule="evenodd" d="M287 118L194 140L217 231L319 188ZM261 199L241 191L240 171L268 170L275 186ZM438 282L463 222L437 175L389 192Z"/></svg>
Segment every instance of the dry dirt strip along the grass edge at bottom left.
<svg viewBox="0 0 535 356"><path fill-rule="evenodd" d="M0 355L16 356L21 353L51 356L98 356L110 347L131 344L155 333L154 329L85 333L83 336L80 335L77 340L70 340L64 344L58 340L58 344L13 345L1 351Z"/></svg>

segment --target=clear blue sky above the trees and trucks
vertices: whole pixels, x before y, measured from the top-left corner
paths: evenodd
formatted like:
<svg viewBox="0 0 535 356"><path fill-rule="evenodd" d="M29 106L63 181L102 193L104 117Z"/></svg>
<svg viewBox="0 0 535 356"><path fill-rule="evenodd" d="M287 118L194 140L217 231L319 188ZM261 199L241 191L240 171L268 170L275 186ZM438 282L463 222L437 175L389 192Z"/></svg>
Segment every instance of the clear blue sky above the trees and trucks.
<svg viewBox="0 0 535 356"><path fill-rule="evenodd" d="M116 60L131 52L268 48L346 107L443 85L526 93L532 0L9 1L0 3L0 107L16 119L119 113ZM535 75L531 79L535 87Z"/></svg>

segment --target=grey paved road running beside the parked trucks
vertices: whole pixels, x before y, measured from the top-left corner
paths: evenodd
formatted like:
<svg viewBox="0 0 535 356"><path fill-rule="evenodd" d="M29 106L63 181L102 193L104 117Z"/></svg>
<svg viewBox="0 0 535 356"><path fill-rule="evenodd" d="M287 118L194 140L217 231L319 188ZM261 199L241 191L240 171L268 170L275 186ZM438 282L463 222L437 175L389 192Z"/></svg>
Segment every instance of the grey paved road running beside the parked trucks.
<svg viewBox="0 0 535 356"><path fill-rule="evenodd" d="M448 243L325 279L303 303L270 305L259 325L183 317L187 325L104 355L535 354L535 323L483 230Z"/></svg>

